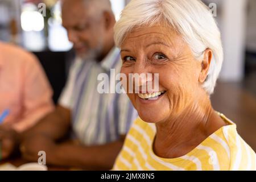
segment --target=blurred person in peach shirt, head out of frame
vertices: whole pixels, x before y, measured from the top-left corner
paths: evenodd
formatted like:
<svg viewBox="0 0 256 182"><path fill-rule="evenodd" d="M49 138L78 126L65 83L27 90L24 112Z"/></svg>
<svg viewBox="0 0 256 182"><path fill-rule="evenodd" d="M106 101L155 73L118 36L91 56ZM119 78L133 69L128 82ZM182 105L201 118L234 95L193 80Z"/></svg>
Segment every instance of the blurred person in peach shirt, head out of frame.
<svg viewBox="0 0 256 182"><path fill-rule="evenodd" d="M2 159L13 150L18 133L34 126L54 109L52 89L36 57L21 48L0 42L0 125Z"/></svg>

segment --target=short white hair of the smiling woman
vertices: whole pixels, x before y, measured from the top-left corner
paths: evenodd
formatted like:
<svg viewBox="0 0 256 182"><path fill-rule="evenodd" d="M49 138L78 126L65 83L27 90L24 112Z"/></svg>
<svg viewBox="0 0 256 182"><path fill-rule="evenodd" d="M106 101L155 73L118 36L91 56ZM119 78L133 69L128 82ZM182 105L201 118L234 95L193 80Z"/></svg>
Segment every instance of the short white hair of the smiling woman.
<svg viewBox="0 0 256 182"><path fill-rule="evenodd" d="M220 30L207 6L200 0L131 0L122 11L114 27L117 47L135 27L168 23L182 36L197 60L202 60L205 49L213 52L203 88L212 94L221 71L223 49Z"/></svg>

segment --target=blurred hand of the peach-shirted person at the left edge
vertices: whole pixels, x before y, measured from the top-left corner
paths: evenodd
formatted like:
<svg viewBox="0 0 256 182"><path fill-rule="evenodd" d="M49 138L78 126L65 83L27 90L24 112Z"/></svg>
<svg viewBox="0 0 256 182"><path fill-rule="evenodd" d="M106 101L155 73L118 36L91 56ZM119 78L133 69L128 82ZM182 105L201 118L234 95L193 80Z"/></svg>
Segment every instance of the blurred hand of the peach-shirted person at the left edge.
<svg viewBox="0 0 256 182"><path fill-rule="evenodd" d="M18 151L19 134L10 127L0 127L1 158L7 159Z"/></svg>

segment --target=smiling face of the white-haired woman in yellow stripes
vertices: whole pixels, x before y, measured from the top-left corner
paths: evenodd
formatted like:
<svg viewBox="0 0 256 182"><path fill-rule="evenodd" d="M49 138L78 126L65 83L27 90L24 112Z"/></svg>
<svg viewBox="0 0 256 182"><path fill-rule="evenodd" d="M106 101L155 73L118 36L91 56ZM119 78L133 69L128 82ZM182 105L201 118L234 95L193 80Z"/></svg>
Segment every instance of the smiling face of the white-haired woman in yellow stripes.
<svg viewBox="0 0 256 182"><path fill-rule="evenodd" d="M199 81L201 61L195 60L188 44L171 27L136 28L121 45L121 72L159 73L161 93L154 100L147 95L128 93L139 116L146 122L164 122L176 118L197 100L202 90ZM142 86L147 80L139 82ZM135 86L135 85L134 85Z"/></svg>

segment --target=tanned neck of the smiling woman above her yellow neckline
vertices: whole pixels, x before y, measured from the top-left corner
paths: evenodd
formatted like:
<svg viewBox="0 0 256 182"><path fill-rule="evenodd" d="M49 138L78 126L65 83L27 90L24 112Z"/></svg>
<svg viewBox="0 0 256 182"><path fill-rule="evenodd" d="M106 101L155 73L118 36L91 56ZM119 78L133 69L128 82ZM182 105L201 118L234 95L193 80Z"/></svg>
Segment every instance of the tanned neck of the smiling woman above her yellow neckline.
<svg viewBox="0 0 256 182"><path fill-rule="evenodd" d="M218 117L205 94L178 117L156 123L154 152L162 158L183 156L222 126L225 122Z"/></svg>

